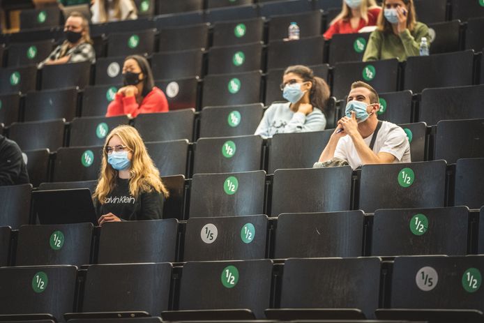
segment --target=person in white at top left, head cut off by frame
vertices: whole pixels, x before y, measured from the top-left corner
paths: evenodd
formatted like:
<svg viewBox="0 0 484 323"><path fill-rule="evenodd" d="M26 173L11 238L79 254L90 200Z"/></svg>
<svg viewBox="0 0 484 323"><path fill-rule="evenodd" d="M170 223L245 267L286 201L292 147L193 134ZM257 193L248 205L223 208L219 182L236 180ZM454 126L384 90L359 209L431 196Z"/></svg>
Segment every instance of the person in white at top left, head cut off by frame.
<svg viewBox="0 0 484 323"><path fill-rule="evenodd" d="M133 20L138 17L133 0L94 0L91 13L93 24Z"/></svg>

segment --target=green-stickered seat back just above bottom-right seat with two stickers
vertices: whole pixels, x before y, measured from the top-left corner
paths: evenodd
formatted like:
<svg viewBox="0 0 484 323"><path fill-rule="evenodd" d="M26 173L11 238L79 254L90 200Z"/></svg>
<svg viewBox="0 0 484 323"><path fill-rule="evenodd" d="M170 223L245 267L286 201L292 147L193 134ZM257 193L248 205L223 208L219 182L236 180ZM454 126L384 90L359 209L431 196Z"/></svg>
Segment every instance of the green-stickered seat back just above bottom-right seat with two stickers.
<svg viewBox="0 0 484 323"><path fill-rule="evenodd" d="M469 209L378 209L372 255L466 255ZM448 225L452 223L453 225Z"/></svg>

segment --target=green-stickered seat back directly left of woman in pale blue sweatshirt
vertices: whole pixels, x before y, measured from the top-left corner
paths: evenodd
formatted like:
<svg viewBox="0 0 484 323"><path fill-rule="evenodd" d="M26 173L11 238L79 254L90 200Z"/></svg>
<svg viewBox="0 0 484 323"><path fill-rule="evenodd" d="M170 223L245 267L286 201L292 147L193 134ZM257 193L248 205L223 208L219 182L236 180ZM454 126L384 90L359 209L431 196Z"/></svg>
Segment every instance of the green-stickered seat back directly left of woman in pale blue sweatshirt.
<svg viewBox="0 0 484 323"><path fill-rule="evenodd" d="M262 103L204 107L200 137L231 137L255 133L264 113Z"/></svg>

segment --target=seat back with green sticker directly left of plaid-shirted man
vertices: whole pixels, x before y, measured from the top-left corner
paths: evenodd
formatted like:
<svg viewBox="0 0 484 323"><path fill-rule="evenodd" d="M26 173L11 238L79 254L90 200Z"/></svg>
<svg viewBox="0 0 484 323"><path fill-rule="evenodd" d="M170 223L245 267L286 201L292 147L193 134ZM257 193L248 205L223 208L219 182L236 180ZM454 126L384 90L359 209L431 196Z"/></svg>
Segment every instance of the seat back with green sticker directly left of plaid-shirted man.
<svg viewBox="0 0 484 323"><path fill-rule="evenodd" d="M26 66L40 63L49 56L53 46L52 39L10 44L8 46L7 66Z"/></svg>

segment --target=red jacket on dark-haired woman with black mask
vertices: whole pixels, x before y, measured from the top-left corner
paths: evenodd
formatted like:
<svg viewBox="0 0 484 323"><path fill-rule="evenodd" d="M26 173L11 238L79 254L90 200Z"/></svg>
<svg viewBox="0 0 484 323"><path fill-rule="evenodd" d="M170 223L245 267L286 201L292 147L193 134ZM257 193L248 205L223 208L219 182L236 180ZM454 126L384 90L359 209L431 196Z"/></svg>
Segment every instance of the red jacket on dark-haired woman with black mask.
<svg viewBox="0 0 484 323"><path fill-rule="evenodd" d="M167 112L168 101L165 93L153 87L153 89L144 97L141 105L138 105L134 96L125 97L116 93L114 100L107 106L106 117L121 116L131 114L135 118L140 113Z"/></svg>

